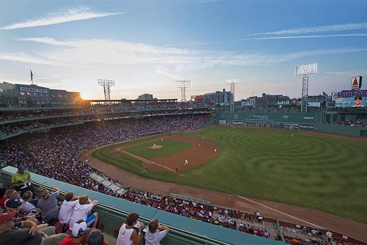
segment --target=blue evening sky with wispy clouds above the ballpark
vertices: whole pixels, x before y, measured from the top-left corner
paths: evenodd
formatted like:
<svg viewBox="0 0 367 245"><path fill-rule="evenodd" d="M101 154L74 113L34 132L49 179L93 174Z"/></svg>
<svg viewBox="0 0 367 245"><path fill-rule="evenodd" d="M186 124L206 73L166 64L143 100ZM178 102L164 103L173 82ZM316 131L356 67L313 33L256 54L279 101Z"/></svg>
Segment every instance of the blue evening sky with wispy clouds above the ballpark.
<svg viewBox="0 0 367 245"><path fill-rule="evenodd" d="M318 64L309 95L367 89L367 1L0 0L0 82L104 99L181 100L230 91L300 98L295 67Z"/></svg>

